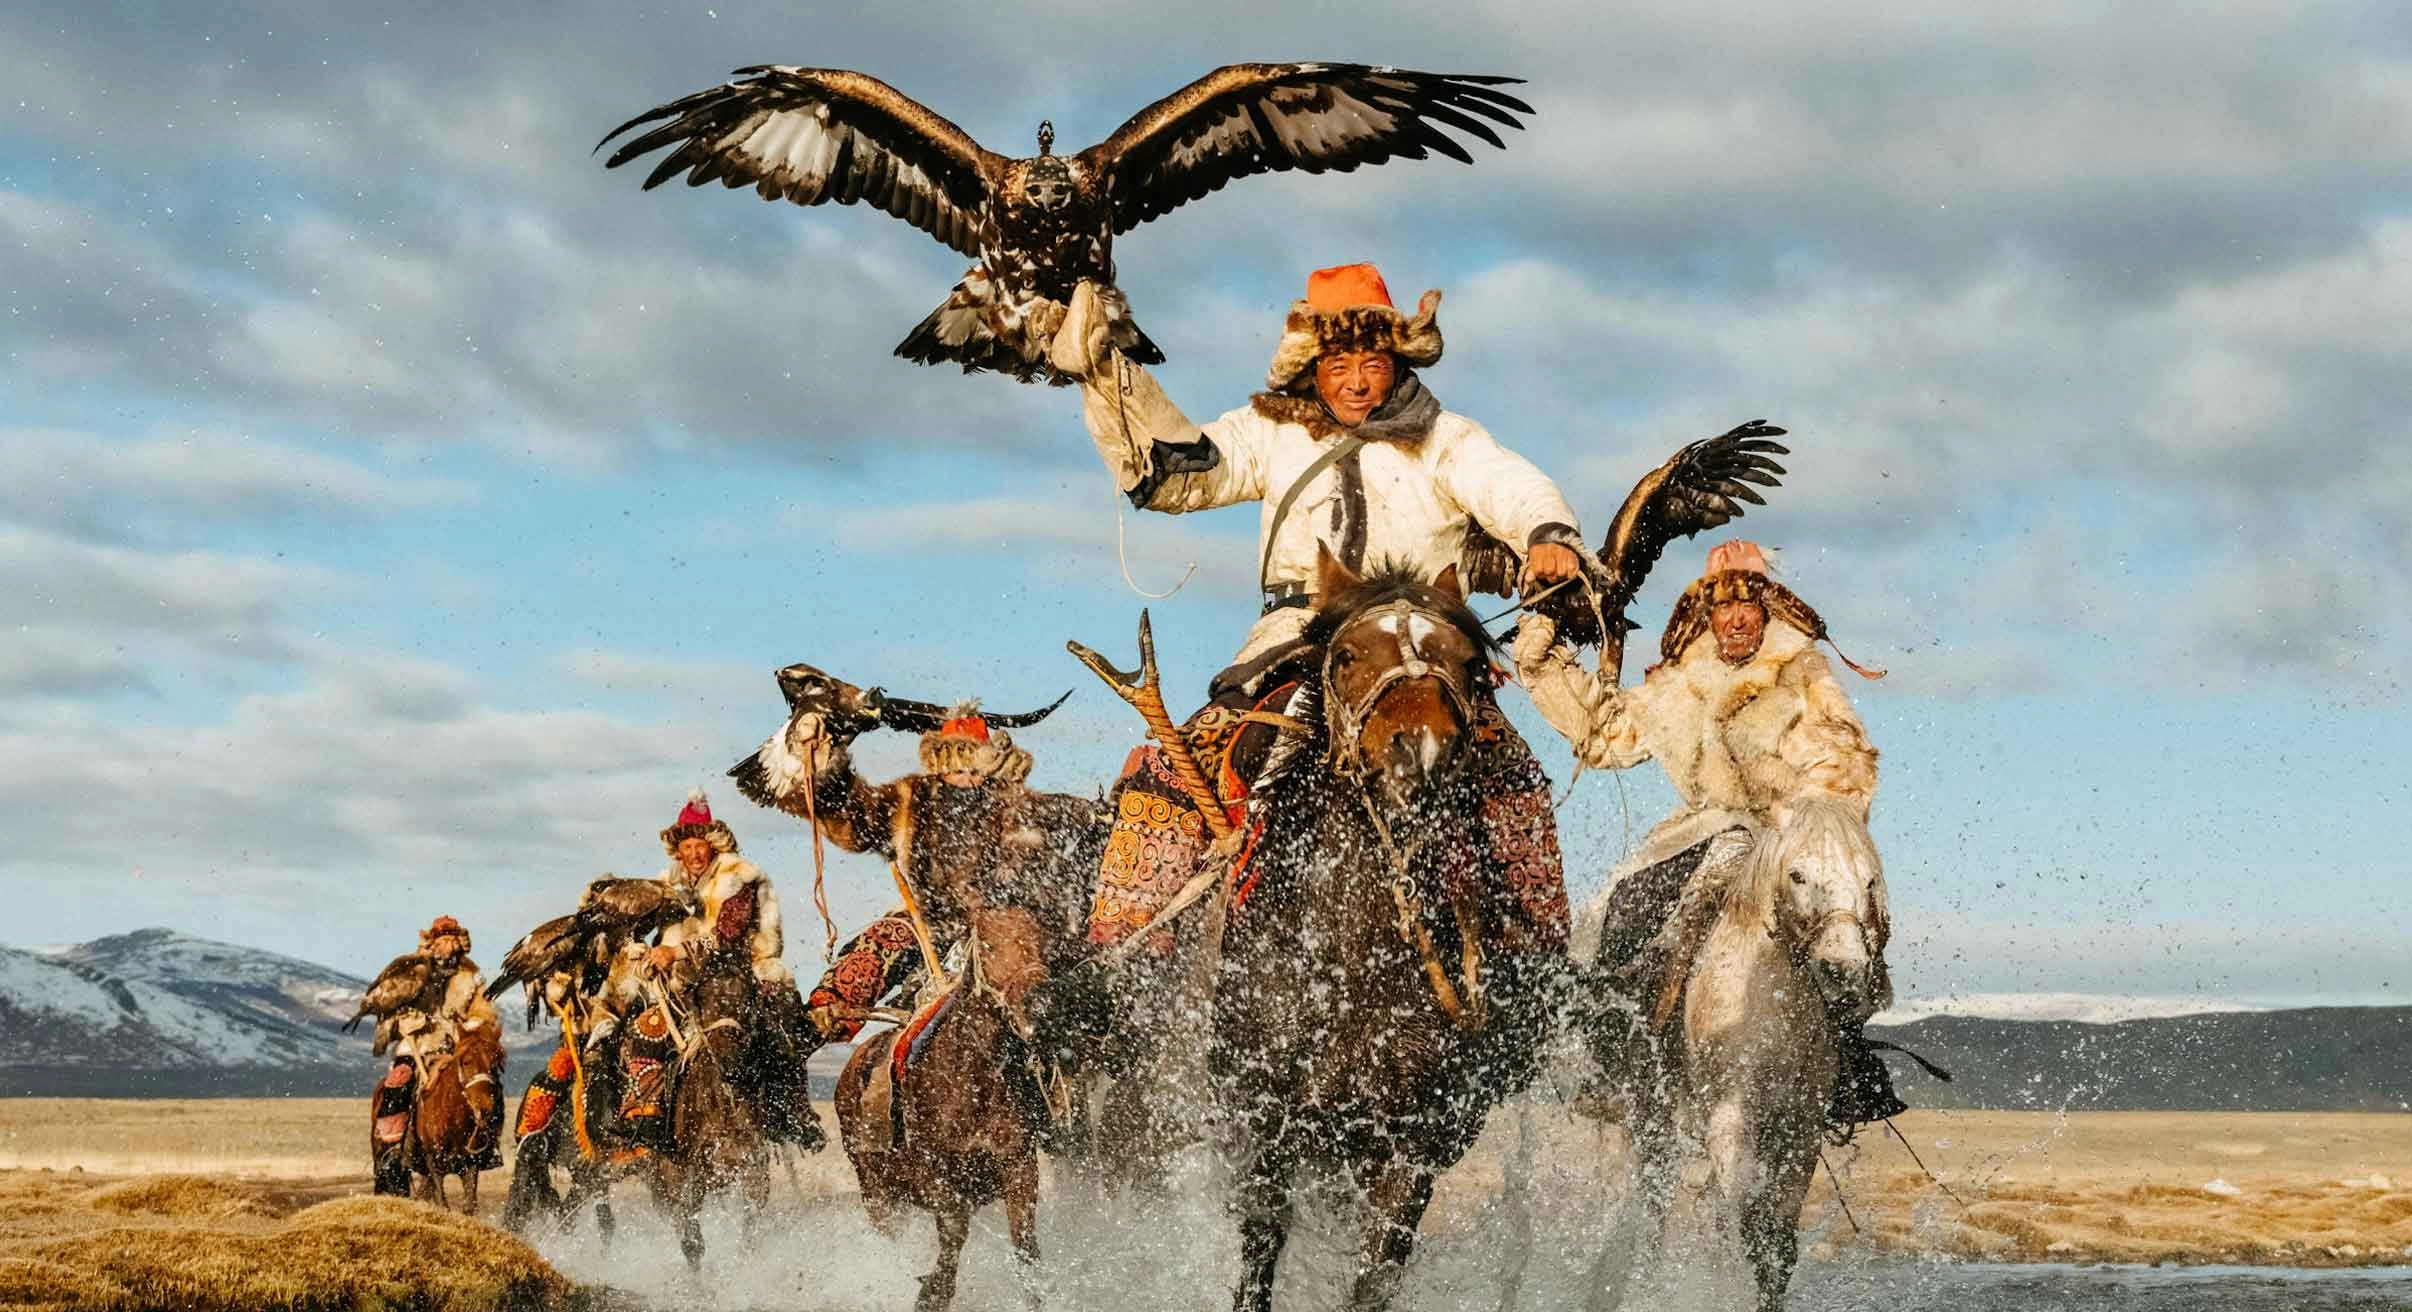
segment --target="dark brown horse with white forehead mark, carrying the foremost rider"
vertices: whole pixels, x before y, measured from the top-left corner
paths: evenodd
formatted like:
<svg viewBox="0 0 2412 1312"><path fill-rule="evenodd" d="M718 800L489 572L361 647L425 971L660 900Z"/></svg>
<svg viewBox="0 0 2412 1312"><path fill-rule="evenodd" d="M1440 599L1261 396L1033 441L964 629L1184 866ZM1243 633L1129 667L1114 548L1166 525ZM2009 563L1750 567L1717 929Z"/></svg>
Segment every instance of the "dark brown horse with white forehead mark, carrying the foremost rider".
<svg viewBox="0 0 2412 1312"><path fill-rule="evenodd" d="M1257 784L1264 832L1216 986L1211 1071L1242 1138L1242 1312L1271 1307L1307 1170L1363 1199L1348 1307L1389 1305L1433 1177L1532 1080L1563 965L1488 960L1488 895L1462 878L1491 642L1454 569L1358 579L1327 557L1319 596L1290 702L1305 728Z"/></svg>

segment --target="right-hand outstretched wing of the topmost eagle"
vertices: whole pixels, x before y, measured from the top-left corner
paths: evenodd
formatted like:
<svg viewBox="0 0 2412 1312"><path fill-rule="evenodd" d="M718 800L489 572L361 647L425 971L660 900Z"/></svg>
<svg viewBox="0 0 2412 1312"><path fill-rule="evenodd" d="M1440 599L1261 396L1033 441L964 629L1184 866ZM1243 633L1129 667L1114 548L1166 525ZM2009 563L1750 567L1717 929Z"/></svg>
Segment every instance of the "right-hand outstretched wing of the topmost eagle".
<svg viewBox="0 0 2412 1312"><path fill-rule="evenodd" d="M1141 109L1081 159L1110 178L1114 232L1131 232L1252 174L1346 174L1435 152L1471 164L1447 130L1505 147L1491 123L1522 128L1517 116L1532 113L1498 89L1515 82L1363 63L1235 63Z"/></svg>

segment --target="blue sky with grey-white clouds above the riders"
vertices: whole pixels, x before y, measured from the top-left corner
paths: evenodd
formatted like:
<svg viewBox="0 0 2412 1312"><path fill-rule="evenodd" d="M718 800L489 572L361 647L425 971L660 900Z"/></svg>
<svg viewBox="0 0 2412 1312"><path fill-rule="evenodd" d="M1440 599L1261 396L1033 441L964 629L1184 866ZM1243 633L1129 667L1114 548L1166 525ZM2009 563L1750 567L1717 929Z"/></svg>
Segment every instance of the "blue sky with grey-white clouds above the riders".
<svg viewBox="0 0 2412 1312"><path fill-rule="evenodd" d="M1102 784L1134 724L1061 644L1126 646L1141 598L1076 400L888 357L960 275L921 234L639 193L589 147L743 63L861 68L1020 152L1218 63L1356 58L1522 75L1539 116L1474 169L1254 178L1126 236L1194 417L1307 268L1372 258L1447 289L1430 386L1587 523L1782 422L1746 528L1896 670L1852 692L1905 994L2400 1001L2412 29L2000 10L12 5L7 938L369 970L453 912L492 953L658 868L692 784L801 909L801 827L719 786L789 661L1081 687L1025 740ZM1155 603L1182 687L1245 629L1252 528L1126 526L1143 584L1199 564ZM1667 798L1582 777L1577 885ZM880 909L876 866L832 880Z"/></svg>

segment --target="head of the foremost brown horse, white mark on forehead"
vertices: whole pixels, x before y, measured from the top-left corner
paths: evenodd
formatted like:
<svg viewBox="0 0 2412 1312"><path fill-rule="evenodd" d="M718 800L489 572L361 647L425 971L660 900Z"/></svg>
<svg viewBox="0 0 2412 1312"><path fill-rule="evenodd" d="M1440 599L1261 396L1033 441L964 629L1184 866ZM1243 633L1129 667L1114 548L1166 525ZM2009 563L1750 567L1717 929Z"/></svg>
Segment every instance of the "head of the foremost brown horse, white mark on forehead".
<svg viewBox="0 0 2412 1312"><path fill-rule="evenodd" d="M1394 567L1358 576L1319 550L1317 596L1305 637L1322 649L1331 769L1406 813L1466 757L1491 637L1454 564L1425 584Z"/></svg>

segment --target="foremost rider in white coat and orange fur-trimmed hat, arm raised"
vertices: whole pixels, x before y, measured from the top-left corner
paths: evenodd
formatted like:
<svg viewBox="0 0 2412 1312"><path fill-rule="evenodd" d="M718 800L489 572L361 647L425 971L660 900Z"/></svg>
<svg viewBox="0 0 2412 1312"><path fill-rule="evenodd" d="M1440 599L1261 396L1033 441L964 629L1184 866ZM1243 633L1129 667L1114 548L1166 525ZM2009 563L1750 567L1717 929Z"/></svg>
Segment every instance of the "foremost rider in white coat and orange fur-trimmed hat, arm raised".
<svg viewBox="0 0 2412 1312"><path fill-rule="evenodd" d="M1225 803L1252 769L1247 748L1233 748L1242 716L1302 656L1319 552L1356 574L1394 562L1425 579L1486 555L1493 564L1476 574L1505 574L1498 562L1522 555L1524 596L1582 572L1575 511L1549 475L1425 388L1418 369L1435 364L1442 345L1440 292L1425 292L1409 316L1372 265L1315 270L1283 323L1266 391L1208 424L1189 422L1146 369L1107 350L1114 297L1093 282L1076 289L1052 362L1081 379L1081 412L1117 487L1134 506L1165 514L1264 502L1264 610L1187 726L1208 769L1233 752ZM1565 868L1549 777L1491 697L1481 697L1471 731L1486 878L1520 912L1500 926L1498 948L1563 957ZM1090 938L1112 943L1148 924L1204 844L1189 793L1153 748L1134 752L1114 789Z"/></svg>

